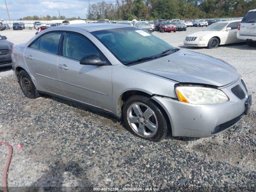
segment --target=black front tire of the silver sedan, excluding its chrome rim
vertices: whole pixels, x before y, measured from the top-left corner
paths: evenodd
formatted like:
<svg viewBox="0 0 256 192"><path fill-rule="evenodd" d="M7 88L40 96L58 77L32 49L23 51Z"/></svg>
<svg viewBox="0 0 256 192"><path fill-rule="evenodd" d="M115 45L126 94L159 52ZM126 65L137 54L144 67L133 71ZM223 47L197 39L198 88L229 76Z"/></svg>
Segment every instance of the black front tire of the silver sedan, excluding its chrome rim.
<svg viewBox="0 0 256 192"><path fill-rule="evenodd" d="M130 127L130 124L127 120L127 110L129 108L129 106L134 102L140 102L140 103L146 104L148 107L150 107L154 111L154 113L156 115L156 118L158 121L158 130L157 130L156 134L154 134L150 138L146 138L146 137L136 134L136 132L134 132L134 130L132 130L132 128ZM135 136L138 136L140 138L158 142L158 141L162 140L163 138L165 138L168 133L168 120L166 119L167 117L166 117L165 113L162 112L162 109L160 107L158 107L158 105L153 100L151 100L149 97L140 96L140 95L131 96L125 102L125 104L122 108L122 116L123 116L123 120L124 120L127 130L130 131Z"/></svg>

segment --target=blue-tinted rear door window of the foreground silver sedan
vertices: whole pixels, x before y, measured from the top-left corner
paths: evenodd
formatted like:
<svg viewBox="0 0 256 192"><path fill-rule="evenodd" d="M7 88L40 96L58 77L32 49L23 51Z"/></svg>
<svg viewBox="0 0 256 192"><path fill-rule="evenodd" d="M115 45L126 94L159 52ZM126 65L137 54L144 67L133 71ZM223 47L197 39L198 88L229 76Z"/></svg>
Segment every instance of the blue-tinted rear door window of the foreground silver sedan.
<svg viewBox="0 0 256 192"><path fill-rule="evenodd" d="M39 50L57 54L60 35L61 32L52 32L42 36Z"/></svg>

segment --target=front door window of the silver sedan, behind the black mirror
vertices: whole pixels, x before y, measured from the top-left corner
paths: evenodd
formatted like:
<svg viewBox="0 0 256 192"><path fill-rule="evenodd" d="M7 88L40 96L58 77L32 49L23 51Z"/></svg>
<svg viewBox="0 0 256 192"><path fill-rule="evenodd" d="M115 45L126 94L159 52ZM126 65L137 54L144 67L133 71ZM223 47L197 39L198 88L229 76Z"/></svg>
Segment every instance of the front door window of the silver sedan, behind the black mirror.
<svg viewBox="0 0 256 192"><path fill-rule="evenodd" d="M63 47L63 56L75 60L81 60L85 56L96 55L102 58L102 54L86 37L73 33L66 33ZM102 58L102 60L104 60Z"/></svg>

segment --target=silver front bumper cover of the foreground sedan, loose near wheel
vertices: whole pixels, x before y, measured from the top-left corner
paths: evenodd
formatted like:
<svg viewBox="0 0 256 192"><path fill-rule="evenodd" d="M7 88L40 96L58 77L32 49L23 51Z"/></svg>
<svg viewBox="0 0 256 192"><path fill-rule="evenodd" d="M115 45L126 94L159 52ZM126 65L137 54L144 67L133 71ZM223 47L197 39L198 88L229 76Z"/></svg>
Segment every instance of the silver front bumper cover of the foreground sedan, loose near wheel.
<svg viewBox="0 0 256 192"><path fill-rule="evenodd" d="M166 111L172 136L210 137L234 126L244 116L250 95L246 89L245 98L234 95L231 89L238 84L244 88L240 80L221 88L229 100L218 104L195 105L161 96L152 99Z"/></svg>

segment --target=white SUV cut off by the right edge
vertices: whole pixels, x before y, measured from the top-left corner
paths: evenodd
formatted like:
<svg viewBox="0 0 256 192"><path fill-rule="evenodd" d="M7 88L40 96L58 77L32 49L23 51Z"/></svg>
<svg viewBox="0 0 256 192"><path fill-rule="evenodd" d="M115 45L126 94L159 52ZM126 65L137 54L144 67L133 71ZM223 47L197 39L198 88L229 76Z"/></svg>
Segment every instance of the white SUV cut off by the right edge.
<svg viewBox="0 0 256 192"><path fill-rule="evenodd" d="M256 46L256 9L248 11L244 16L236 36L246 40L248 46Z"/></svg>

